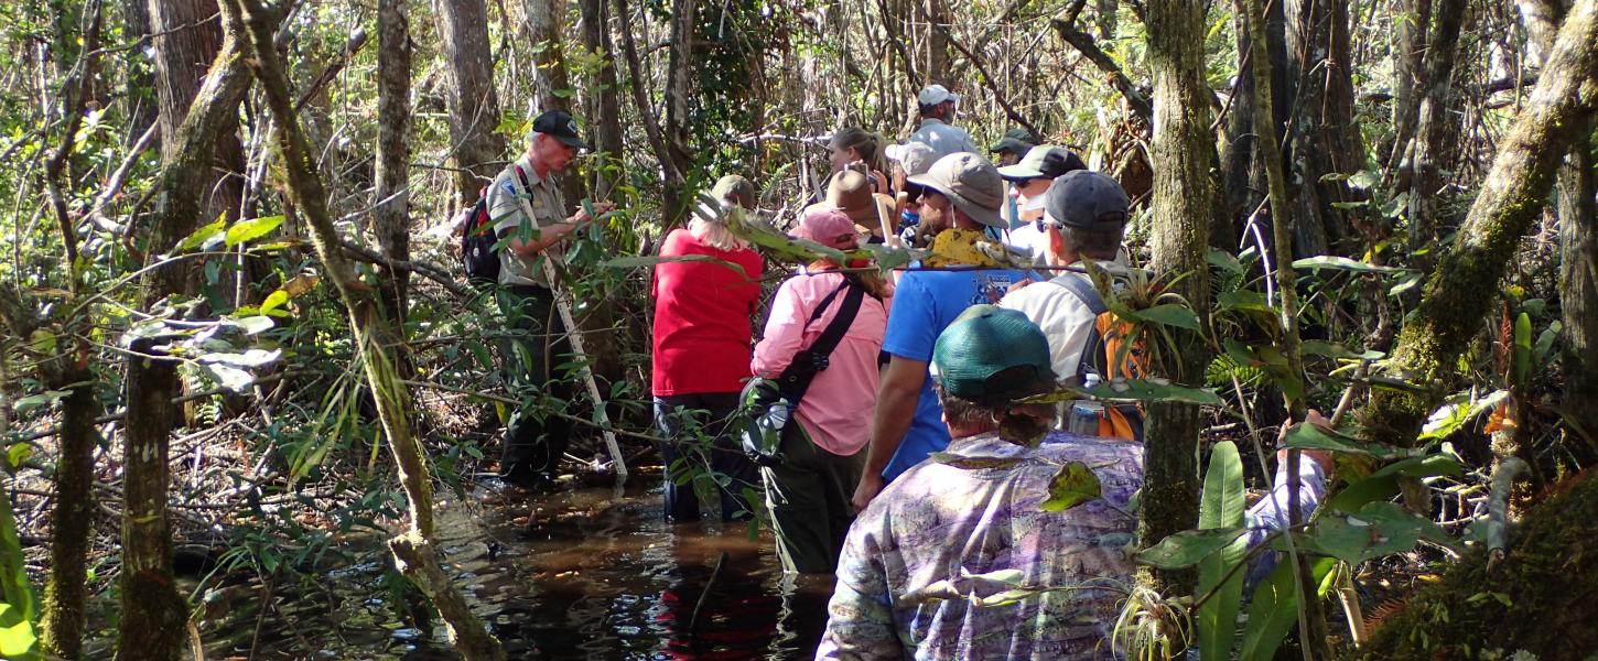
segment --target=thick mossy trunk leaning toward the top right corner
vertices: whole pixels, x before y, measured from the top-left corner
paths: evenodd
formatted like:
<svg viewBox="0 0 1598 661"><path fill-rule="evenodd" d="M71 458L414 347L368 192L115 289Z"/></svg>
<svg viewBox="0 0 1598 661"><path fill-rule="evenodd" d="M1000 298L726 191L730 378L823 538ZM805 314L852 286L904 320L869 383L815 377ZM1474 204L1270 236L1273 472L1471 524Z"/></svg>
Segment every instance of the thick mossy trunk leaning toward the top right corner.
<svg viewBox="0 0 1598 661"><path fill-rule="evenodd" d="M1392 366L1433 390L1373 393L1363 420L1377 441L1414 442L1451 382L1454 358L1481 329L1483 315L1497 299L1491 292L1520 238L1540 216L1564 153L1592 117L1592 99L1598 96L1595 40L1598 0L1580 0L1560 29L1531 99L1499 141L1493 169L1459 236L1432 271L1419 310L1398 337Z"/></svg>

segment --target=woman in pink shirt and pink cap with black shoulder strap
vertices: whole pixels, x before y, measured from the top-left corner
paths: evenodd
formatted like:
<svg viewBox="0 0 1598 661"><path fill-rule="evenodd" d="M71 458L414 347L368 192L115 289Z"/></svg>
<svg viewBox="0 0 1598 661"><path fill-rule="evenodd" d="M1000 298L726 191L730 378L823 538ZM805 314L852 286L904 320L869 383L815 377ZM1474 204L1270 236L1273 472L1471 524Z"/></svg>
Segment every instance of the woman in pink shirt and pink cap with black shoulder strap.
<svg viewBox="0 0 1598 661"><path fill-rule="evenodd" d="M845 251L860 244L849 216L826 206L807 211L794 236ZM837 567L844 533L853 520L849 498L860 482L871 434L877 356L892 292L874 273L845 275L831 260L813 262L777 291L764 338L754 346L754 374L778 377L837 318L850 287L866 292L860 310L828 356L828 367L799 401L799 423L783 429L778 447L783 461L761 468L785 572L831 573Z"/></svg>

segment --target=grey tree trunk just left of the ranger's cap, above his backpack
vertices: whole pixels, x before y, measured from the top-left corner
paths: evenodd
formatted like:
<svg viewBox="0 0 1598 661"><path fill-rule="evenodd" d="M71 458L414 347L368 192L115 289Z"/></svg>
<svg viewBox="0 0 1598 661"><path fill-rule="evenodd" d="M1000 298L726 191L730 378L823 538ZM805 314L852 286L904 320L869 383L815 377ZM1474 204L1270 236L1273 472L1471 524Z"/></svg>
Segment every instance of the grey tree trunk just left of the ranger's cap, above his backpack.
<svg viewBox="0 0 1598 661"><path fill-rule="evenodd" d="M449 141L459 172L455 192L462 204L478 200L483 185L499 174L505 139L494 133L500 121L489 61L489 24L483 0L435 0L438 38L449 70L444 101L449 104Z"/></svg>

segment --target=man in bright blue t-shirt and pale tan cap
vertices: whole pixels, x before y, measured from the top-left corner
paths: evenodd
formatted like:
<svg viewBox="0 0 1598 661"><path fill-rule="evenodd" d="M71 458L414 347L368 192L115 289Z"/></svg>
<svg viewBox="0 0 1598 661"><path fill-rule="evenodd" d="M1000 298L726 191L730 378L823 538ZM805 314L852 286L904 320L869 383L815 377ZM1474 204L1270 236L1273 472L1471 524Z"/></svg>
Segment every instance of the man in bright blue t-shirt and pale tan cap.
<svg viewBox="0 0 1598 661"><path fill-rule="evenodd" d="M927 174L909 177L924 187L922 220L959 230L1004 227L1004 179L992 163L960 152L940 158ZM1007 268L911 270L898 281L882 350L888 367L877 386L877 412L871 423L866 468L855 489L857 511L876 498L882 485L949 445L943 407L927 378L932 345L956 316L975 303L992 303L1024 273Z"/></svg>

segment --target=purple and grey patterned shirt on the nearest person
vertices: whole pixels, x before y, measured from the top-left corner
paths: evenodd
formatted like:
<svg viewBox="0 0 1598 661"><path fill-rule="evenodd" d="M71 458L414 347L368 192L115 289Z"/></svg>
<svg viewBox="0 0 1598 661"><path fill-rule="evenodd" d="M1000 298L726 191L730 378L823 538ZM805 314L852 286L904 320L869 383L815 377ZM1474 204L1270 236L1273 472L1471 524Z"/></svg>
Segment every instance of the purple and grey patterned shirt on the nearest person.
<svg viewBox="0 0 1598 661"><path fill-rule="evenodd" d="M1051 433L1028 449L989 433L948 452L952 463L911 468L849 528L817 658L1111 658L1122 592L1106 588L1131 576L1136 519L1125 509L1143 485L1143 445ZM1069 461L1093 469L1103 498L1045 513ZM1072 589L992 605L927 599L1043 586Z"/></svg>

